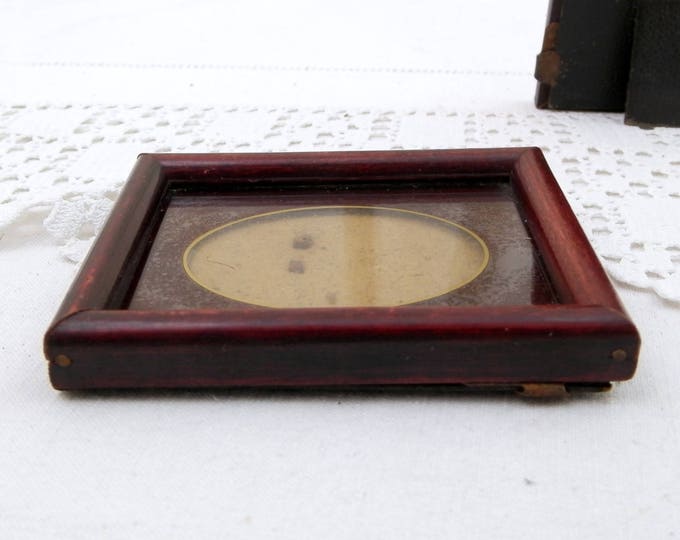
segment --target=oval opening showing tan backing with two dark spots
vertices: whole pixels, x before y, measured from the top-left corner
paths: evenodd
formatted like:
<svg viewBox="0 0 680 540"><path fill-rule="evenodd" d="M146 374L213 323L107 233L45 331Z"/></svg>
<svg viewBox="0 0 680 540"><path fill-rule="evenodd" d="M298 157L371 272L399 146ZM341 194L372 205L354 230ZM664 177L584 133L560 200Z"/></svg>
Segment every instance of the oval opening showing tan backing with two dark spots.
<svg viewBox="0 0 680 540"><path fill-rule="evenodd" d="M258 214L196 238L184 269L198 285L273 308L399 306L482 273L484 241L454 222L371 206Z"/></svg>

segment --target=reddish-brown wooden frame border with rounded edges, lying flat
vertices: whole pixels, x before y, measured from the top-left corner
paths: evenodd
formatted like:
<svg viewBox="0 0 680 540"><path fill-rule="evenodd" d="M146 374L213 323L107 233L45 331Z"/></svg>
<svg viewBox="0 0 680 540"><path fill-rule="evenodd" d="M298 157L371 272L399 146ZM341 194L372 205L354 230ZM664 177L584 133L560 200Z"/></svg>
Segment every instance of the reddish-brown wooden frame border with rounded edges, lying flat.
<svg viewBox="0 0 680 540"><path fill-rule="evenodd" d="M557 305L124 309L174 189L511 184ZM594 385L640 346L539 149L143 154L45 336L55 388ZM539 392L540 393L540 392Z"/></svg>

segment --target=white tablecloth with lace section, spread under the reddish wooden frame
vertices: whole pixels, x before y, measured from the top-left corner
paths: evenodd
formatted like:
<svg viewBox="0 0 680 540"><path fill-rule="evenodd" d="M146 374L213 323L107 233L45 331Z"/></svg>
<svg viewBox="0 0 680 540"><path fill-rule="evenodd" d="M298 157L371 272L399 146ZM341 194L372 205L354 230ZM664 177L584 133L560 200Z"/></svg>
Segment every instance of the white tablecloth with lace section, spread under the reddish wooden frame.
<svg viewBox="0 0 680 540"><path fill-rule="evenodd" d="M534 109L547 2L0 8L0 537L680 535L680 130ZM42 335L138 153L523 145L640 328L610 394L49 386Z"/></svg>

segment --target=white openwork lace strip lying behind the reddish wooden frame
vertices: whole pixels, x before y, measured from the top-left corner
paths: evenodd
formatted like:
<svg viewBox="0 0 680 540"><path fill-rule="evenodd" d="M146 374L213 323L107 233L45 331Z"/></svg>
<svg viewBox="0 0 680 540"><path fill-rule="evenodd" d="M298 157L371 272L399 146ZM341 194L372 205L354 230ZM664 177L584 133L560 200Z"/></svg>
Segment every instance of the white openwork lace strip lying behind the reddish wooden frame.
<svg viewBox="0 0 680 540"><path fill-rule="evenodd" d="M141 152L539 146L612 277L680 302L680 130L537 111L0 105L0 235L82 260Z"/></svg>

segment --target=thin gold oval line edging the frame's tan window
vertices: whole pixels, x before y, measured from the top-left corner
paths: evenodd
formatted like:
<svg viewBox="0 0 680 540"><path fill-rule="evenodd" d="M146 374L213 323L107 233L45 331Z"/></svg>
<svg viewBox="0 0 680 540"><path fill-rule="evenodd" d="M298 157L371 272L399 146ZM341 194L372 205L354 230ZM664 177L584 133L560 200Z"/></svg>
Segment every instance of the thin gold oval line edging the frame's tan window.
<svg viewBox="0 0 680 540"><path fill-rule="evenodd" d="M387 207L387 206L331 205L331 206L309 206L309 207L303 207L303 208L288 208L288 209L285 209L285 210L274 210L272 212L265 212L263 214L255 214L253 216L248 216L248 217L245 217L245 218L237 219L236 221L231 221L229 223L225 223L224 225L220 225L219 227L215 227L214 229L211 229L211 230L201 234L197 238L195 238L191 242L191 244L189 244L189 246L184 250L184 255L182 256L182 266L184 267L184 272L199 287L201 287L202 289L205 289L206 291L210 291L211 293L216 294L217 296L221 296L222 298L227 298L229 300L235 300L236 302L240 302L242 304L248 304L248 305L251 305L251 306L258 306L258 307L265 307L265 308L270 308L270 309L307 309L307 308L290 308L290 307L280 308L280 307L277 307L277 306L268 306L268 305L265 305L265 304L254 304L253 302L246 302L245 300L241 300L241 299L235 298L233 296L227 296L226 294L222 294L221 292L216 291L214 289L211 289L210 287L206 287L196 278L195 274L189 269L189 263L188 263L189 253L194 248L194 246L196 244L198 244L199 242L201 242L204 238L211 236L212 234L215 234L216 232L218 232L222 229L226 229L227 227L232 227L234 225L238 225L239 223L243 223L244 221L251 221L251 220L258 219L258 218L274 216L274 215L277 215L277 214L289 214L289 213L293 213L293 212L308 212L308 211L312 211L312 210L332 210L332 209L341 209L341 208L366 209L366 210L384 210L384 211L387 211L387 212L395 212L395 213L401 212L403 214L411 214L413 216L420 216L420 217L426 217L426 218L429 218L429 219L434 219L436 221L441 221L442 223L446 223L447 225L453 226L457 229L460 229L460 230L466 232L467 234L472 236L475 240L477 240L477 242L479 242L480 246L482 246L482 250L484 251L484 258L482 260L482 264L479 267L479 271L476 274L474 274L470 279L461 283L460 285L457 285L456 287L453 287L452 289L448 289L448 290L446 290L442 293L436 294L434 296L428 296L426 298L422 298L422 299L416 300L414 302L406 302L404 304L396 304L395 306L391 306L391 307L407 306L407 305L410 305L410 304L417 304L419 302L426 302L427 300L432 300L433 298L438 298L438 297L443 296L445 294L449 294L450 292L453 292L455 290L461 289L461 288L465 287L468 283L471 283L475 279L477 279L482 274L482 272L484 272L484 270L486 269L486 267L489 264L489 259L490 259L489 248L486 245L486 242L484 242L484 240L482 239L482 237L479 236L476 232L474 232L474 231L468 229L467 227L464 227L463 225L460 225L460 224L458 224L454 221L449 221L448 219L433 216L431 214L426 214L424 212L416 212L414 210L405 210L403 208L390 208L390 207ZM380 307L380 306L376 306L376 307ZM388 307L388 306L383 306L383 307ZM328 306L328 307L318 306L317 309L337 309L337 308L334 308L332 306Z"/></svg>

